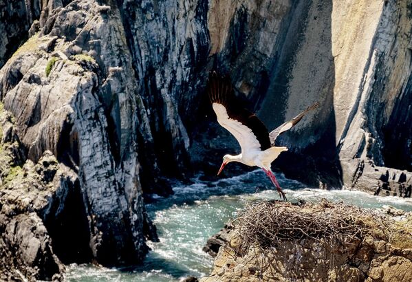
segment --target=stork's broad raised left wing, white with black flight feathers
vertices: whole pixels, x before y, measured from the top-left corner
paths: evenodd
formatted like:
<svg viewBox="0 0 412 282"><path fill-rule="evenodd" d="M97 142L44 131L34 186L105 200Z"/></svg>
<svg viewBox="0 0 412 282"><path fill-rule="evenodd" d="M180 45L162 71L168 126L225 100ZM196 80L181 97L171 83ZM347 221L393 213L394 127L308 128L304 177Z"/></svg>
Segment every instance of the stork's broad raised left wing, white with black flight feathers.
<svg viewBox="0 0 412 282"><path fill-rule="evenodd" d="M217 122L235 136L242 153L270 148L268 129L254 113L239 106L230 78L210 73L207 91Z"/></svg>

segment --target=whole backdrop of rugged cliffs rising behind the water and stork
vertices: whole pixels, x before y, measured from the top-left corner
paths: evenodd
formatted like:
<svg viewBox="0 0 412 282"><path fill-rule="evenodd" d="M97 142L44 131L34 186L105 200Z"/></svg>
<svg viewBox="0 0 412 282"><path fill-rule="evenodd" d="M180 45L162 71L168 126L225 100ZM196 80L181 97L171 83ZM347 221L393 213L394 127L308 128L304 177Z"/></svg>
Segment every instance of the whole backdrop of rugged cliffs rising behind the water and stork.
<svg viewBox="0 0 412 282"><path fill-rule="evenodd" d="M218 69L270 129L321 102L280 140L290 147L277 162L286 175L323 187L411 195L411 6L410 0L0 1L0 100L13 124L2 129L12 158L1 166L1 189L12 189L6 179L18 167L36 166L50 151L65 168L58 185L74 191L56 205L75 216L54 230L41 208L33 212L53 246L82 222L78 243L87 253L57 257L141 261L145 236L155 240L142 192L169 195L166 177L215 172L221 156L236 150L203 95L208 71ZM39 184L50 186L50 195L59 191L47 185ZM74 213L74 206L82 208ZM2 213L3 222L20 214Z"/></svg>

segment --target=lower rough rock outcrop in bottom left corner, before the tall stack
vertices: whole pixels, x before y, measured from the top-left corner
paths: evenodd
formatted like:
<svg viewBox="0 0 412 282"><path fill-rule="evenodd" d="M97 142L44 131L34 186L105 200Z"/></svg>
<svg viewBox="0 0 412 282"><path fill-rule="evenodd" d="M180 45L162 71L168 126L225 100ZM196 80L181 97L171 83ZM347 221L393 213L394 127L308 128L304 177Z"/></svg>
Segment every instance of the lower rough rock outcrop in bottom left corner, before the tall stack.
<svg viewBox="0 0 412 282"><path fill-rule="evenodd" d="M78 177L50 151L25 161L13 123L0 104L0 279L61 279L61 259L90 252Z"/></svg>

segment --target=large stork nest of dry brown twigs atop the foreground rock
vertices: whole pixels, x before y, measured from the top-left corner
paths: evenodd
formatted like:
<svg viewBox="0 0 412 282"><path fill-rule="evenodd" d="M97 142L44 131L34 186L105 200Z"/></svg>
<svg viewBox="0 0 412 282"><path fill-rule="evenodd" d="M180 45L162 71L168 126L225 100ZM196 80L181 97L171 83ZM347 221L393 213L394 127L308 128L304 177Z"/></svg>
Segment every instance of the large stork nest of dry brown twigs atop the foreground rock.
<svg viewBox="0 0 412 282"><path fill-rule="evenodd" d="M371 226L382 226L382 220L371 210L323 200L301 206L289 202L249 204L234 224L241 237L239 250L246 251L250 246L267 249L281 241L301 239L345 246L364 238Z"/></svg>

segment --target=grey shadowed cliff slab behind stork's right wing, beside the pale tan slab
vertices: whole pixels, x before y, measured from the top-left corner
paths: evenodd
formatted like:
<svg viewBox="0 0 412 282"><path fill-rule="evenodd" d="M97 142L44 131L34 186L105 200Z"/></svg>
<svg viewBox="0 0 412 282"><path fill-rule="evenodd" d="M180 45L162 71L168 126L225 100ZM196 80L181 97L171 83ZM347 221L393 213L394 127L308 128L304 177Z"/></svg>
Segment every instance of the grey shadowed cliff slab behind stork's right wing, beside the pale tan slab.
<svg viewBox="0 0 412 282"><path fill-rule="evenodd" d="M342 186L336 149L335 64L332 54L332 0L297 1L284 42L272 67L270 85L258 116L271 131L313 102L292 131L277 145L289 147L275 166L290 177L323 188Z"/></svg>

